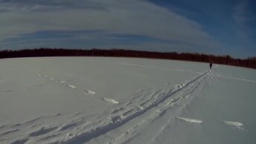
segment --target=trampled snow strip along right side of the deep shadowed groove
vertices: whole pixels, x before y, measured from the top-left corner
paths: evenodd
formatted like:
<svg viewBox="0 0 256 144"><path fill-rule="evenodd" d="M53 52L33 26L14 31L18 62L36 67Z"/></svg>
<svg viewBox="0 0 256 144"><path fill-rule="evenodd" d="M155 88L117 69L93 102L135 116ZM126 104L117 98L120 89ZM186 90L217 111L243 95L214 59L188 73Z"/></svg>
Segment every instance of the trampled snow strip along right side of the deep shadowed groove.
<svg viewBox="0 0 256 144"><path fill-rule="evenodd" d="M170 125L170 122L172 122L175 119L175 116L179 114L180 111L182 111L183 108L186 106L186 102L188 102L191 97L191 94L194 91L200 91L202 88L202 85L204 85L205 80L207 80L208 77L204 77L199 82L193 82L191 85L188 85L187 88L182 88L181 91L179 91L177 94L173 94L172 96L168 97L166 101L159 103L159 105L152 111L153 113L150 114L150 117L144 118L141 122L137 123L136 125L133 125L130 127L127 131L124 131L122 134L120 134L119 137L115 137L111 141L107 142L109 143L126 143L127 141L131 140L133 137L135 137L136 134L139 133L139 128L143 126L145 123L150 123L153 120L156 120L158 117L161 117L165 111L167 111L168 108L175 108L176 106L178 109L176 111L173 111L172 117L170 117L169 121L162 125L161 131L159 131L159 134L156 135L158 137L162 131L164 131L165 128L167 128L167 125ZM180 84L185 86L184 84ZM176 88L181 88L179 85L176 85ZM150 125L150 124L148 124ZM156 140L156 137L153 137L152 140Z"/></svg>

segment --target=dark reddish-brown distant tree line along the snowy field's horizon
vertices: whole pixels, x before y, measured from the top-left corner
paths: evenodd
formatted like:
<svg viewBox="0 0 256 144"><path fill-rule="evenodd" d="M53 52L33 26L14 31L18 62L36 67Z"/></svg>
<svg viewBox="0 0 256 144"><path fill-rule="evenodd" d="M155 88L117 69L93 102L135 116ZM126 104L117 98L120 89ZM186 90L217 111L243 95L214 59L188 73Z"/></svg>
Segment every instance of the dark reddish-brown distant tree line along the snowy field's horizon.
<svg viewBox="0 0 256 144"><path fill-rule="evenodd" d="M138 57L152 59L176 59L193 62L214 62L223 65L235 65L247 68L256 68L256 57L248 59L234 59L231 56L214 56L200 53L161 53L141 50L123 50L113 48L111 50L77 50L63 48L35 48L25 50L1 50L0 59L15 57L35 56L115 56L115 57Z"/></svg>

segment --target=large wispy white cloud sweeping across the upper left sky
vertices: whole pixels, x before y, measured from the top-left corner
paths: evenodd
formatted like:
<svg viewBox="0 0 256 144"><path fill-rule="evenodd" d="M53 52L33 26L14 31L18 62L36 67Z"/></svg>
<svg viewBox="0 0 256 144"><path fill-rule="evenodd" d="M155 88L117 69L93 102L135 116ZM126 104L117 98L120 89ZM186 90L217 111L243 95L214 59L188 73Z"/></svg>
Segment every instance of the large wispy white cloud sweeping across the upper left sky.
<svg viewBox="0 0 256 144"><path fill-rule="evenodd" d="M0 41L42 30L104 30L219 47L202 25L145 0L1 0L0 19Z"/></svg>

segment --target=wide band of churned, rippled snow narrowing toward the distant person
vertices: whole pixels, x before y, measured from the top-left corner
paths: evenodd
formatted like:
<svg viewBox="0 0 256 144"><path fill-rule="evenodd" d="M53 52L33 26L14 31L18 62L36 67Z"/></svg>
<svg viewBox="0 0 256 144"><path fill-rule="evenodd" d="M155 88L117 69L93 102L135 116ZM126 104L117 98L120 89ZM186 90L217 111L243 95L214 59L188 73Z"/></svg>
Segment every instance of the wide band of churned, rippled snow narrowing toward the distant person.
<svg viewBox="0 0 256 144"><path fill-rule="evenodd" d="M109 102L115 103L113 105L115 109L106 110L102 117L88 118L80 112L69 116L66 114L42 116L19 125L10 124L3 127L4 134L1 135L0 140L7 143L86 143L141 117L141 121L136 122L118 137L106 141L106 143L124 142L129 135L132 135L132 131L137 131L141 125L160 117L168 108L175 108L182 101L186 102L193 91L199 89L199 85L208 79L208 73L209 71L202 73L173 88L141 90L136 94L138 97L133 96L132 100L127 102L105 98L104 100L108 99Z"/></svg>

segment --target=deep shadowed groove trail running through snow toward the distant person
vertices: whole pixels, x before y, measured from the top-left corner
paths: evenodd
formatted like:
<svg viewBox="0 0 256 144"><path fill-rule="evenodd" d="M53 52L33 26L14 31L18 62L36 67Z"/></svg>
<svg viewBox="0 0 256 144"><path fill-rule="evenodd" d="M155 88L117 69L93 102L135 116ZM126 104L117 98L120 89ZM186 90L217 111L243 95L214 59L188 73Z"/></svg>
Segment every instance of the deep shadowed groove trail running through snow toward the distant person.
<svg viewBox="0 0 256 144"><path fill-rule="evenodd" d="M106 134L106 132L118 128L121 125L124 125L126 122L129 122L129 120L141 116L145 112L149 111L151 108L154 108L157 105L161 104L161 102L164 102L165 99L173 96L173 94L177 94L179 93L179 91L182 91L185 88L194 85L196 82L200 82L200 80L207 76L208 73L209 71L191 79L188 82L176 85L173 89L164 91L158 94L155 99L148 99L148 101L143 102L141 105L136 105L132 108L124 108L123 111L118 111L118 114L112 114L109 117L106 117L103 120L96 122L89 128L80 131L80 134L77 134L75 137L65 139L63 143L86 143L95 137Z"/></svg>

